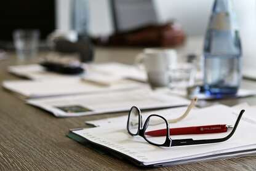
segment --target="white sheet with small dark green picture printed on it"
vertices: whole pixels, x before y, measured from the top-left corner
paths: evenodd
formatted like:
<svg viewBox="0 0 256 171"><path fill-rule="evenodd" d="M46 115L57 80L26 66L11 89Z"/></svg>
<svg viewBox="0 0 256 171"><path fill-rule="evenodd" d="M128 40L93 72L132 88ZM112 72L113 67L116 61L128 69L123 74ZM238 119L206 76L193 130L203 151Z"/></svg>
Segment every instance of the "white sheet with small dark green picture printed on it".
<svg viewBox="0 0 256 171"><path fill-rule="evenodd" d="M156 109L188 105L189 100L152 92L150 89L102 92L69 97L52 97L28 100L28 104L46 109L57 117L129 111L132 106Z"/></svg>

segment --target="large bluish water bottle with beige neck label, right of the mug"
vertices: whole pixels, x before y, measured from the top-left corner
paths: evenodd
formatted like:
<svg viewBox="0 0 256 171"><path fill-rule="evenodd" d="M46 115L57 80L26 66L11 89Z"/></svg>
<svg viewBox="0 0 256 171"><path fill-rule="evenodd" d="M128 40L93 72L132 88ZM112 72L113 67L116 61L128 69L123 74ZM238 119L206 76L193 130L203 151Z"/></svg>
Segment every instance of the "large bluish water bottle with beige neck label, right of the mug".
<svg viewBox="0 0 256 171"><path fill-rule="evenodd" d="M204 89L234 95L241 83L241 41L231 0L215 0L204 42Z"/></svg>

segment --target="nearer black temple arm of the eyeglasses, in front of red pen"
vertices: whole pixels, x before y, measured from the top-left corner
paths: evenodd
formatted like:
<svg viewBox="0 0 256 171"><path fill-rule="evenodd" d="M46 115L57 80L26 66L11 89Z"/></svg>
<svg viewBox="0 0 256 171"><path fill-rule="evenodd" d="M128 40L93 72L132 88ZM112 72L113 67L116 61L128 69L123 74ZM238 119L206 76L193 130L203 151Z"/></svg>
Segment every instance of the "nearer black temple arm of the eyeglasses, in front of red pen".
<svg viewBox="0 0 256 171"><path fill-rule="evenodd" d="M244 114L244 109L242 109L239 113L238 119L236 119L236 124L234 124L233 130L224 138L217 138L217 139L209 139L209 140L193 140L192 138L189 139L180 139L180 140L172 140L171 146L183 146L183 145L200 145L200 144L209 144L209 143L220 143L226 141L232 137L236 128L238 127L239 121L241 120L242 114Z"/></svg>

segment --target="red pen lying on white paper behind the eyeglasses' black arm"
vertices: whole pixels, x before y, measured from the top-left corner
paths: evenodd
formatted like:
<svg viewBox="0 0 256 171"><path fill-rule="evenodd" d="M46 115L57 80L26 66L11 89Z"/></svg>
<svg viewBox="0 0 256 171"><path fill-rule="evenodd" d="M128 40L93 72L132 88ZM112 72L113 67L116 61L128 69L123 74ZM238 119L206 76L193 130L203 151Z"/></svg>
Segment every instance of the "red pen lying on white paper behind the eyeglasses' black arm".
<svg viewBox="0 0 256 171"><path fill-rule="evenodd" d="M170 129L170 135L186 135L186 134L201 134L201 133L221 133L227 132L233 128L231 125L202 125L196 127L180 127ZM145 135L152 137L161 137L166 135L166 129L151 130L145 132Z"/></svg>

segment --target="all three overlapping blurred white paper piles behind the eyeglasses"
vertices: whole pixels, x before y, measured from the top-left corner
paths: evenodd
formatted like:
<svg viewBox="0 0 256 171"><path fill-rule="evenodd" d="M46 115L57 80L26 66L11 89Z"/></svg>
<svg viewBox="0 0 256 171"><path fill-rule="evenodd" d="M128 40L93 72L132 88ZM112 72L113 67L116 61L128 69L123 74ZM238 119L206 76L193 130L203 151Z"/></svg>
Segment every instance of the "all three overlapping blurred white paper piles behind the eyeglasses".
<svg viewBox="0 0 256 171"><path fill-rule="evenodd" d="M30 98L28 104L46 109L57 117L129 111L133 105L157 109L190 102L153 92L142 83L146 81L144 71L121 63L89 64L86 74L66 78L45 71L39 65L11 66L9 71L34 80L4 81L4 88Z"/></svg>

